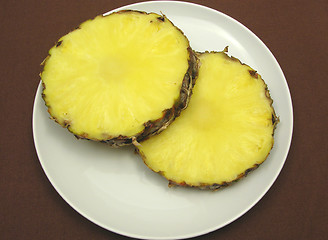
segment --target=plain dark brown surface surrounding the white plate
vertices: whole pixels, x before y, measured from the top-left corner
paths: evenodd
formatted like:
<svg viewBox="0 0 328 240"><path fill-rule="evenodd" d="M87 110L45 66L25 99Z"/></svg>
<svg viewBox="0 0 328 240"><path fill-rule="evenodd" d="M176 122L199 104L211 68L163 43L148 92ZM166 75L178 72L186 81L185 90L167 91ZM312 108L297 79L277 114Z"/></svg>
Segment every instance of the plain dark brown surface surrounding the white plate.
<svg viewBox="0 0 328 240"><path fill-rule="evenodd" d="M40 63L82 21L137 1L1 1L0 239L129 239L74 211L44 174L32 136ZM294 134L286 164L244 216L195 239L327 239L328 2L192 1L243 23L288 81Z"/></svg>

